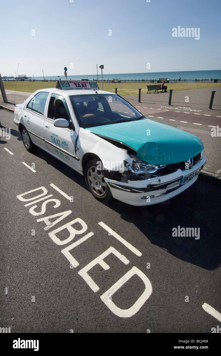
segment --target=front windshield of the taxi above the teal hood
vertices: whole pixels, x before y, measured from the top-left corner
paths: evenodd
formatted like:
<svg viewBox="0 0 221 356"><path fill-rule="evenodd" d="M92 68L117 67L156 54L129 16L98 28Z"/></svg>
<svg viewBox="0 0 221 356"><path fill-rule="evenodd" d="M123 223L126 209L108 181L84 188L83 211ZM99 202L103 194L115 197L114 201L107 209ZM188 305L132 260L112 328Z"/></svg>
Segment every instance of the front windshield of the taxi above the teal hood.
<svg viewBox="0 0 221 356"><path fill-rule="evenodd" d="M70 95L80 127L89 128L142 118L143 115L114 94Z"/></svg>

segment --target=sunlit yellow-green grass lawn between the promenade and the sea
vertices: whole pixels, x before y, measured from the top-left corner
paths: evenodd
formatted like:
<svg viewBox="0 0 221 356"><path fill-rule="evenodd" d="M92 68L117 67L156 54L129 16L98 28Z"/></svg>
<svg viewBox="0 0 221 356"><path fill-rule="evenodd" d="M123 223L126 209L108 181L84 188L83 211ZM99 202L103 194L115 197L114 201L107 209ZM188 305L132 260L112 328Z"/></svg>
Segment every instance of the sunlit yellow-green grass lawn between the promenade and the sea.
<svg viewBox="0 0 221 356"><path fill-rule="evenodd" d="M5 89L16 90L17 91L27 91L28 93L33 93L38 89L45 88L55 88L56 82L3 82ZM156 83L104 83L104 90L112 91L115 93L115 87L117 88L117 94L124 95L134 95L138 94L138 88L141 88L141 94L147 93L147 84L156 85ZM168 84L168 85L167 85ZM215 88L221 87L221 83L200 83L200 82L185 82L185 83L166 83L168 89L173 90L186 90L186 89L200 89L200 88ZM99 88L102 90L102 83L98 83Z"/></svg>

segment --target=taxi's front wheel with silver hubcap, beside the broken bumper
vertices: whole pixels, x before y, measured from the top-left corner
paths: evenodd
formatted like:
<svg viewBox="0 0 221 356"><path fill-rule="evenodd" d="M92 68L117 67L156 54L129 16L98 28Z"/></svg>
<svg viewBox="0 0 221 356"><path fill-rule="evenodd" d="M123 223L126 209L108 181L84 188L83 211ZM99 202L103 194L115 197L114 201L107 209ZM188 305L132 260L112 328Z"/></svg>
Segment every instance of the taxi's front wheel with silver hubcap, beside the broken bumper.
<svg viewBox="0 0 221 356"><path fill-rule="evenodd" d="M97 169L98 159L91 159L85 166L84 176L89 192L98 200L111 200L112 194L110 188L104 180L109 176L106 170Z"/></svg>

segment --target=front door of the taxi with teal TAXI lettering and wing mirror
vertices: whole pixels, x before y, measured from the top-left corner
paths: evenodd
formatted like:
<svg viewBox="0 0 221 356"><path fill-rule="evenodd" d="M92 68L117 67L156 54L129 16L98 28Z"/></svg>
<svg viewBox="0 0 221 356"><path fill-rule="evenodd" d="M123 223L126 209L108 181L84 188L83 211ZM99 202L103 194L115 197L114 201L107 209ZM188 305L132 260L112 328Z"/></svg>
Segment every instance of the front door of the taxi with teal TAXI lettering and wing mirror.
<svg viewBox="0 0 221 356"><path fill-rule="evenodd" d="M79 160L75 150L77 132L73 130L73 126L70 128L54 126L56 119L66 119L71 122L68 105L62 95L51 94L46 116L43 135L48 150L69 166L76 167Z"/></svg>

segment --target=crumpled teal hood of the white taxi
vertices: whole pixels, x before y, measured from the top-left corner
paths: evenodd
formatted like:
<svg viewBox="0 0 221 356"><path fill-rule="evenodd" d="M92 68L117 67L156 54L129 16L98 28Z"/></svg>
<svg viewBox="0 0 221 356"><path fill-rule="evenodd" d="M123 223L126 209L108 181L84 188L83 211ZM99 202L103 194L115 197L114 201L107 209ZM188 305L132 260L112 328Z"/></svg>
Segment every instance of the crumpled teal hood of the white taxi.
<svg viewBox="0 0 221 356"><path fill-rule="evenodd" d="M137 151L138 158L156 165L179 163L203 150L199 137L150 119L89 127L86 130L125 143Z"/></svg>

